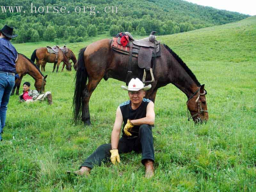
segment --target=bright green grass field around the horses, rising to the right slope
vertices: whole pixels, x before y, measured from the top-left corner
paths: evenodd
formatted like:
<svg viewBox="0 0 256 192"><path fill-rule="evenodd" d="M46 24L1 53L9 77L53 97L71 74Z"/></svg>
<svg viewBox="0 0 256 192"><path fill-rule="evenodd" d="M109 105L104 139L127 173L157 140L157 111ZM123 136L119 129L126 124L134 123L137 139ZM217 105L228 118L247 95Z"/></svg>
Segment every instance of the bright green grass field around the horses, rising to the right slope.
<svg viewBox="0 0 256 192"><path fill-rule="evenodd" d="M93 41L68 44L76 55ZM153 129L155 177L145 179L139 154L95 167L88 178L67 176L100 144L108 143L117 106L128 100L123 82L102 80L90 100L92 125L74 126L75 71L52 73L45 90L53 105L18 103L11 96L0 144L0 191L255 191L256 17L186 33L158 36L205 84L209 121L187 121L186 96L172 84L157 92ZM15 44L30 55L37 47ZM25 76L23 81L34 80ZM21 92L22 90L20 90Z"/></svg>

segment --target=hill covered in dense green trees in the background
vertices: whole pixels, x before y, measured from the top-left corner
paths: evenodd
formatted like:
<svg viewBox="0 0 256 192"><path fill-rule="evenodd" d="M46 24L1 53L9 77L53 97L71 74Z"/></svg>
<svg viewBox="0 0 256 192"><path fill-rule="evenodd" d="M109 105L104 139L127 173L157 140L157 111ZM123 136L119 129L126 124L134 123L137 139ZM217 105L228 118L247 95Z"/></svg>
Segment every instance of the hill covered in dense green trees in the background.
<svg viewBox="0 0 256 192"><path fill-rule="evenodd" d="M30 3L34 7L33 13L31 13ZM142 36L148 35L151 31L156 31L158 35L167 35L222 25L249 16L181 0L77 0L72 2L5 0L0 4L23 6L20 13L15 12L15 8L12 13L9 9L5 13L3 8L0 10L0 23L2 25L7 23L17 28L19 36L14 40L16 43L43 40L56 43L63 40L71 43L82 42L88 37L104 34L104 31L108 31L111 36L120 31L129 31ZM48 13L46 6L51 6ZM63 11L65 13L60 13L62 6L65 6L66 10ZM78 6L81 10L76 8ZM86 6L88 8L83 8ZM116 6L117 13L106 13L104 8L107 6ZM58 13L53 7L58 7ZM80 13L76 13L75 10L76 12L80 10Z"/></svg>

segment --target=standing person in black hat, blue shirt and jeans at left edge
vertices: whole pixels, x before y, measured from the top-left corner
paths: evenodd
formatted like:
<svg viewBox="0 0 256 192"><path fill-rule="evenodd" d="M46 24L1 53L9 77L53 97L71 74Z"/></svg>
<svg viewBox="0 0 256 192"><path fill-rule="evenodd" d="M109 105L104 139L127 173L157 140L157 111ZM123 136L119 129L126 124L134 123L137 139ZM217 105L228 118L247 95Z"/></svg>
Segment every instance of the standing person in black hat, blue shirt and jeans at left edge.
<svg viewBox="0 0 256 192"><path fill-rule="evenodd" d="M17 37L12 35L13 28L5 25L0 30L0 140L5 125L7 104L15 82L15 62L18 59L18 52L10 40Z"/></svg>

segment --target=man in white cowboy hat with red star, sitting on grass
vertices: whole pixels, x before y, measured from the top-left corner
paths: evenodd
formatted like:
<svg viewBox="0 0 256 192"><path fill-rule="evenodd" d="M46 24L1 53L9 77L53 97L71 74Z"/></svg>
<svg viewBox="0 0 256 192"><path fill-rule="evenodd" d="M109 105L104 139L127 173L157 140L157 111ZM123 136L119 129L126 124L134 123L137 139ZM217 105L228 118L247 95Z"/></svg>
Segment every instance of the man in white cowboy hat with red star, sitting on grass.
<svg viewBox="0 0 256 192"><path fill-rule="evenodd" d="M94 165L101 165L108 157L113 164L120 162L119 153L128 153L134 150L142 154L141 163L145 166L145 177L154 175L154 147L152 125L155 122L154 103L144 99L145 90L151 85L143 85L140 79L131 79L128 88L130 100L122 103L116 110L116 120L111 134L111 144L103 144L96 149L76 171L77 175L88 175ZM122 129L122 137L119 135Z"/></svg>

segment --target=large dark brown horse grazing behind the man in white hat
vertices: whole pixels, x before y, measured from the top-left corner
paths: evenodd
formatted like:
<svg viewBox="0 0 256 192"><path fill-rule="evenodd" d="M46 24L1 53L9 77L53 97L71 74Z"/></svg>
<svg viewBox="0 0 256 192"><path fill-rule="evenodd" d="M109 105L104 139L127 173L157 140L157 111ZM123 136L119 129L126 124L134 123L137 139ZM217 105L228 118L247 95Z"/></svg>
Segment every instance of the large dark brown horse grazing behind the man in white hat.
<svg viewBox="0 0 256 192"><path fill-rule="evenodd" d="M91 124L89 100L102 78L108 80L111 77L126 82L129 55L114 51L110 45L111 40L102 39L79 52L73 98L74 123L82 118L84 125ZM172 83L188 97L187 107L191 114L189 118L195 122L207 121L204 85L198 82L187 65L167 45L160 44L160 46L161 57L156 58L153 69L155 82L151 83L152 88L146 92L145 97L154 102L157 89ZM137 58L134 57L132 57L132 69L130 79L139 77L141 80L143 70L138 68Z"/></svg>

